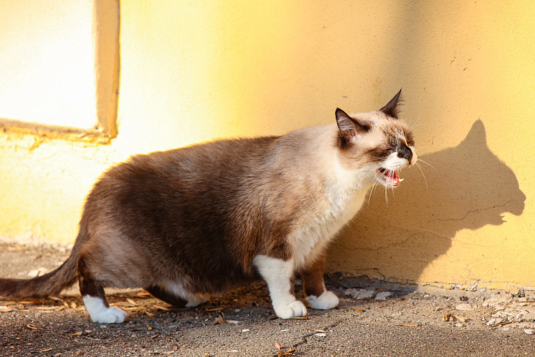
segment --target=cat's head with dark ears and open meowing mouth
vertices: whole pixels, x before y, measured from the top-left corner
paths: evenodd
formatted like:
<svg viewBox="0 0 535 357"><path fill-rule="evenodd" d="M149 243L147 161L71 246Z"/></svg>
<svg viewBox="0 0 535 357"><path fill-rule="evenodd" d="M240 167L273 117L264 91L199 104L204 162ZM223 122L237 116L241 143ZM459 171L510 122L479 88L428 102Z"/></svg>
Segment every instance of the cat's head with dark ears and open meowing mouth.
<svg viewBox="0 0 535 357"><path fill-rule="evenodd" d="M375 112L349 115L339 108L335 112L344 165L369 169L374 173L370 175L373 182L391 188L403 181L399 170L418 160L412 132L398 119L400 95L401 91Z"/></svg>

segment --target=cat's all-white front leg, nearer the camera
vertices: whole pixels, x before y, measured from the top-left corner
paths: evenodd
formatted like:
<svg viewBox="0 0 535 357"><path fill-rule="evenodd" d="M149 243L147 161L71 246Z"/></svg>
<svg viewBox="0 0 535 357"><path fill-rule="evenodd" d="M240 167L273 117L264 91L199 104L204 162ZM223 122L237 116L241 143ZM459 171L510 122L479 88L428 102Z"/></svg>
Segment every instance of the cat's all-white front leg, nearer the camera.
<svg viewBox="0 0 535 357"><path fill-rule="evenodd" d="M253 264L267 282L275 314L281 319L301 317L307 314L307 307L295 300L293 294L293 260L288 261L257 255Z"/></svg>

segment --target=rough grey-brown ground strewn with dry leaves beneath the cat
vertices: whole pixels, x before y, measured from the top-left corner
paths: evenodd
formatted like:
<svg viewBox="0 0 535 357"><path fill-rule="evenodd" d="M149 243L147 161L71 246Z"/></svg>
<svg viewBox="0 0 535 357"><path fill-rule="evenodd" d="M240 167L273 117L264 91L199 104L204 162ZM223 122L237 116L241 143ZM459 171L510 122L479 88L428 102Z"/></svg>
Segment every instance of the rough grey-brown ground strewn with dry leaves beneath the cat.
<svg viewBox="0 0 535 357"><path fill-rule="evenodd" d="M59 266L65 248L0 245L0 276ZM296 291L303 298L297 279ZM128 314L94 324L76 289L0 299L0 356L535 356L532 291L411 289L333 275L334 310L277 319L259 282L177 310L142 290L111 291Z"/></svg>

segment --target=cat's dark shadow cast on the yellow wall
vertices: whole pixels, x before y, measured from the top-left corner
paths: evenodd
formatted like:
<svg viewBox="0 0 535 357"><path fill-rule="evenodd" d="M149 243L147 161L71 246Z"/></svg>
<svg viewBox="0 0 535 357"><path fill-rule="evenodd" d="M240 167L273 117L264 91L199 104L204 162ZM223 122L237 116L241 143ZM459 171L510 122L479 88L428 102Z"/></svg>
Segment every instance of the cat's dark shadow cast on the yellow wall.
<svg viewBox="0 0 535 357"><path fill-rule="evenodd" d="M488 149L481 120L458 146L421 155L419 165L425 178L417 168L403 170L406 180L394 197L388 192L388 204L385 189L375 188L332 245L328 271L417 281L461 229L502 225L504 213L524 211L518 180Z"/></svg>

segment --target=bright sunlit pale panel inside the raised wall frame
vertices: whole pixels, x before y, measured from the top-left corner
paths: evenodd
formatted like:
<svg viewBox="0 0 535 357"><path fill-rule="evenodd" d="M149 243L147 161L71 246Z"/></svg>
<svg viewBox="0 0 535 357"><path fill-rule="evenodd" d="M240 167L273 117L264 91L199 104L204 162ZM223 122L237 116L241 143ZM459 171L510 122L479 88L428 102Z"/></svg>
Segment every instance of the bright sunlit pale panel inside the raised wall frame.
<svg viewBox="0 0 535 357"><path fill-rule="evenodd" d="M10 0L0 22L0 117L97 124L94 1Z"/></svg>

